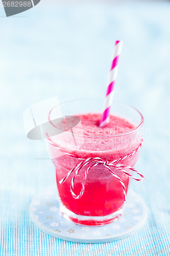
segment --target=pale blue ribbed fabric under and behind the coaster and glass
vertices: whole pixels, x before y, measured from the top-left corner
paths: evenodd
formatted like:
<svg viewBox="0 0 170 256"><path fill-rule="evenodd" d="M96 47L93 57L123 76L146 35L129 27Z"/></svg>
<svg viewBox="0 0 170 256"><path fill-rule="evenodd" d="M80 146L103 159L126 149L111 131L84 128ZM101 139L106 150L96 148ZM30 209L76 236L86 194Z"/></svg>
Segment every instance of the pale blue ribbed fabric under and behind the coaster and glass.
<svg viewBox="0 0 170 256"><path fill-rule="evenodd" d="M170 2L41 1L18 16L0 10L0 255L169 255ZM34 195L55 183L43 142L26 138L22 113L52 96L103 97L116 39L124 40L114 98L144 116L133 190L148 205L145 225L116 242L81 244L41 232L30 221Z"/></svg>

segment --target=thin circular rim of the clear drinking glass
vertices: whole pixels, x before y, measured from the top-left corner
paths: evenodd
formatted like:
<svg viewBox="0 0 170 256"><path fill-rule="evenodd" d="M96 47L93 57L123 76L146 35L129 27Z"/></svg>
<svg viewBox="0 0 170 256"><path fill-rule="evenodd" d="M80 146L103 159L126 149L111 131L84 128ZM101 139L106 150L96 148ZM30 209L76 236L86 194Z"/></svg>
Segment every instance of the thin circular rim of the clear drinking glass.
<svg viewBox="0 0 170 256"><path fill-rule="evenodd" d="M83 101L83 100L103 100L103 99L102 99L102 98L82 98L82 99L73 99L73 100L63 101L63 102L57 104L56 106L54 106L54 107L51 109L51 111L50 111L50 113L49 113L49 115L48 115L49 121L52 123L52 121L50 120L50 115L51 115L51 112L52 112L55 108L57 108L57 106L62 106L62 105L64 105L64 104L66 104L66 103L76 102L76 101ZM114 102L115 102L115 103L118 103L118 104L120 104L120 105L128 106L128 107L130 107L131 109L135 110L135 111L139 114L139 116L140 116L140 118L141 118L140 124L139 124L137 127L135 127L133 130L129 131L129 132L121 133L121 134L116 134L116 135L109 135L109 136L108 136L108 135L106 135L106 136L90 136L90 135L84 135L84 134L83 134L83 135L80 135L80 134L75 134L75 133L74 133L74 136L86 137L86 138L114 138L114 137L117 138L117 137L119 137L119 136L131 135L131 134L135 133L136 131L138 131L138 130L140 129L140 127L143 125L143 121L144 121L142 114L141 114L136 108L134 108L134 106L132 106L132 105L130 105L130 104L127 104L127 103L124 103L124 102L121 102L121 101L117 101L117 100L114 100ZM114 102L113 102L113 103L114 103ZM54 124L52 123L52 125L54 125ZM67 131L65 131L65 133L67 133ZM67 133L67 134L69 134L69 133Z"/></svg>

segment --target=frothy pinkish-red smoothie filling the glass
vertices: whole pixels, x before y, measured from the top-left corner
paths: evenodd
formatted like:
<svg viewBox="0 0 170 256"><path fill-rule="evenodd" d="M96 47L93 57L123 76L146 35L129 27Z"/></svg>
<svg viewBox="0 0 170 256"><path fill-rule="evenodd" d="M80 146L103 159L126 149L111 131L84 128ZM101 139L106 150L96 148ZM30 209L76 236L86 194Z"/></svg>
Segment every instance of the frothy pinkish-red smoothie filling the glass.
<svg viewBox="0 0 170 256"><path fill-rule="evenodd" d="M77 148L71 144L69 139L71 133L69 136L61 134L56 139L51 138L59 148L74 155L73 157L56 153L57 157L53 159L61 202L67 209L77 215L107 216L122 208L124 200L122 185L108 172L105 166L101 164L90 169L85 191L80 199L74 199L70 192L71 179L74 174L71 174L62 185L60 185L59 181L70 169L80 163L81 160L79 158L100 157L103 160L112 161L133 152L140 144L140 139L136 139L135 135L130 133L134 130L135 125L123 118L111 115L109 124L101 129L99 127L101 114L88 113L78 116L81 119L82 126L74 127L75 138L79 144ZM82 127L84 137L82 137ZM125 133L126 135L124 135ZM84 140L80 144L79 140L82 140L82 138ZM137 158L138 153L120 163L133 167ZM87 167L88 165L81 169L75 180L75 194L80 193L83 175ZM127 192L129 177L119 170L114 168L112 170L122 179ZM94 223L89 221L86 224L93 225Z"/></svg>

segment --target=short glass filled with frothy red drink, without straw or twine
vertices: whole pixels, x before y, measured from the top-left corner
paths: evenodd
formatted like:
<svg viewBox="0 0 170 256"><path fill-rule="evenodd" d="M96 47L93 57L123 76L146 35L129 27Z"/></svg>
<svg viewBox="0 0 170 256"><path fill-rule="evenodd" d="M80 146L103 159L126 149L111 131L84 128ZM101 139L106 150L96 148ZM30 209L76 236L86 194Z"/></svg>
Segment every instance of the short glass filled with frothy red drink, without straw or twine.
<svg viewBox="0 0 170 256"><path fill-rule="evenodd" d="M74 105L75 102L73 101L72 104ZM131 120L130 114L126 117L126 115L117 113L119 109L123 113L127 108L129 112L132 111L131 115L136 115L137 123ZM75 112L74 114L77 113ZM56 168L61 211L64 217L74 222L86 225L102 225L113 221L122 214L124 191L119 180L103 164L94 166L87 175L84 193L78 199L75 199L70 191L74 172L67 177L63 184L60 184L59 181L72 168L77 166L81 159L99 157L104 161L111 162L132 153L141 143L142 138L139 130L143 119L138 111L120 103L117 103L117 105L115 103L115 114L110 116L110 122L104 128L99 127L101 118L99 113L84 113L78 116L80 117L81 125L74 127L74 139L71 139L72 133L70 131L50 138L53 142L51 151L54 150L55 154L53 155L56 156L52 160ZM120 161L120 164L133 167L138 156L139 151L131 157ZM74 180L74 193L76 195L79 195L82 189L84 173L89 165L87 164L81 168ZM127 193L129 176L114 167L112 167L112 170L125 184Z"/></svg>

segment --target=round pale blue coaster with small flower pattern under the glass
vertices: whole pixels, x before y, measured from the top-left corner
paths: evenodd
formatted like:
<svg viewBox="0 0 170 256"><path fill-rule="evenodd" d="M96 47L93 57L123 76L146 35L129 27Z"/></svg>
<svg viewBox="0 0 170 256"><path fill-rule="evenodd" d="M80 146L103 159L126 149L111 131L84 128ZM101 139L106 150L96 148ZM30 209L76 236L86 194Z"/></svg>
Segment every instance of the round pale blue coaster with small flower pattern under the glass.
<svg viewBox="0 0 170 256"><path fill-rule="evenodd" d="M130 236L147 219L147 206L133 191L128 192L124 214L103 226L79 225L60 214L56 187L47 187L30 204L30 216L43 232L53 237L79 243L105 243Z"/></svg>

